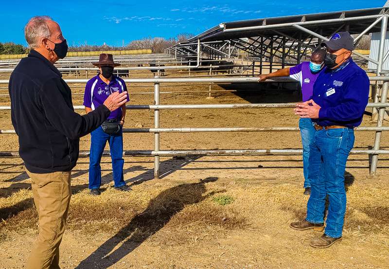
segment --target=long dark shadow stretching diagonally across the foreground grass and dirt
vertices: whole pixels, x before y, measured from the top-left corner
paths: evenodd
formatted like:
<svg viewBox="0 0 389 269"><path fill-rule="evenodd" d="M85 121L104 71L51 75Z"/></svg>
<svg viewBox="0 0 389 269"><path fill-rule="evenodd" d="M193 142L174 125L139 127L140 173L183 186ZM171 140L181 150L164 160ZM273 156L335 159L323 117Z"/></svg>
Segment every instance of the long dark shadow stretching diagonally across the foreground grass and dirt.
<svg viewBox="0 0 389 269"><path fill-rule="evenodd" d="M144 240L163 228L186 205L201 202L206 197L212 196L214 193L203 196L206 192L204 184L216 180L217 178L207 178L200 182L184 183L162 191L149 202L141 214L136 215L130 223L103 243L76 268L106 269L116 264L139 247Z"/></svg>

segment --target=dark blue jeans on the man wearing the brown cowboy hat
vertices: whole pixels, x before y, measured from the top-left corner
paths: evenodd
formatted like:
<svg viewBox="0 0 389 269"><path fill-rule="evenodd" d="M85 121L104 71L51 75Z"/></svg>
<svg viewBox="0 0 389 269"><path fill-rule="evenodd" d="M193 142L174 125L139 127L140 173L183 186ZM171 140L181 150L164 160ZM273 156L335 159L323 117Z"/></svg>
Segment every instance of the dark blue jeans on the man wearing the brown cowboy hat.
<svg viewBox="0 0 389 269"><path fill-rule="evenodd" d="M106 142L109 143L112 160L112 174L115 187L125 185L123 177L123 133L109 135L99 126L90 133L90 155L89 155L89 189L98 189L101 186L100 161L103 155Z"/></svg>

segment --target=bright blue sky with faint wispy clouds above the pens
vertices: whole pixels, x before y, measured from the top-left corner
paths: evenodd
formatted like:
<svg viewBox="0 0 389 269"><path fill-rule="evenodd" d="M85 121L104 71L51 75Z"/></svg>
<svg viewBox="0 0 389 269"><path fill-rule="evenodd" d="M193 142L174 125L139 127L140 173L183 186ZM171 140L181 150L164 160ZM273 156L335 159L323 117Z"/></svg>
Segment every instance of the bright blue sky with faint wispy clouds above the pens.
<svg viewBox="0 0 389 269"><path fill-rule="evenodd" d="M70 45L122 45L145 36L199 34L227 21L381 7L385 0L50 0L1 1L0 42L26 44L29 18L48 15Z"/></svg>

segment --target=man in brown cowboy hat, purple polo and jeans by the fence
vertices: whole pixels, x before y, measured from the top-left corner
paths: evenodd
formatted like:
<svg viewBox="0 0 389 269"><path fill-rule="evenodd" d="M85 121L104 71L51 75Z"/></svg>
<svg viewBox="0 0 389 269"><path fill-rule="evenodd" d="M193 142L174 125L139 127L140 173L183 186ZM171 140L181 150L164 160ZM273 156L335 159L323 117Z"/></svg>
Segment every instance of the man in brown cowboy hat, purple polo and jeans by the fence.
<svg viewBox="0 0 389 269"><path fill-rule="evenodd" d="M93 63L100 73L91 78L85 87L84 106L87 113L99 108L114 92L127 91L124 80L113 75L113 69L120 64L113 61L112 54L100 54L98 62ZM127 101L129 101L127 94ZM128 191L123 176L123 125L125 118L125 104L114 111L106 121L90 133L89 155L89 190L91 195L100 195L101 166L100 161L106 143L109 143L112 160L112 178L114 188Z"/></svg>

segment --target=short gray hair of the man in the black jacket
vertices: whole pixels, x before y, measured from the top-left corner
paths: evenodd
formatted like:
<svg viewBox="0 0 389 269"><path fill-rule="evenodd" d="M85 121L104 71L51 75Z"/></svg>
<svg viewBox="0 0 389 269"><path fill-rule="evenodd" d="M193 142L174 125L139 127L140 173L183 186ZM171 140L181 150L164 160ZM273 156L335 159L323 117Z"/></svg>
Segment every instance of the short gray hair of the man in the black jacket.
<svg viewBox="0 0 389 269"><path fill-rule="evenodd" d="M52 20L49 16L35 16L30 18L24 27L24 36L30 48L39 46L39 38L49 38L51 36L47 20Z"/></svg>

